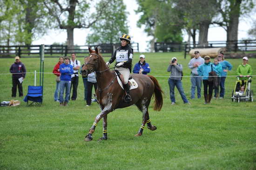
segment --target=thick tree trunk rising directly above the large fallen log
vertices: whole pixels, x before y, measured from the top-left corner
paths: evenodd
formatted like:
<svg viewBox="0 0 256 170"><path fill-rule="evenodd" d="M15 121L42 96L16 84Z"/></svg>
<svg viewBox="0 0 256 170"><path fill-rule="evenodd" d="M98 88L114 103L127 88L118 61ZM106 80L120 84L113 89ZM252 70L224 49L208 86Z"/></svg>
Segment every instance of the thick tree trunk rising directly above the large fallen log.
<svg viewBox="0 0 256 170"><path fill-rule="evenodd" d="M200 24L199 27L199 46L205 47L208 46L208 29L210 22L204 21Z"/></svg>

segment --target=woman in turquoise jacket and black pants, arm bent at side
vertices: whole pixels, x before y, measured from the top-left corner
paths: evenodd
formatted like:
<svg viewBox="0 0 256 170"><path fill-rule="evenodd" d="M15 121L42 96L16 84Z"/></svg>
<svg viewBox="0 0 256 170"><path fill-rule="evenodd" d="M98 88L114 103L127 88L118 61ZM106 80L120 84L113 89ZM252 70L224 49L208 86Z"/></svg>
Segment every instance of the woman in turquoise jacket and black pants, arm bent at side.
<svg viewBox="0 0 256 170"><path fill-rule="evenodd" d="M209 104L212 98L213 93L213 81L208 81L209 72L214 71L218 75L218 71L216 70L215 66L210 62L210 57L204 57L204 64L199 65L197 68L197 72L199 76L203 76L202 83L203 83L203 94L204 94L204 104Z"/></svg>

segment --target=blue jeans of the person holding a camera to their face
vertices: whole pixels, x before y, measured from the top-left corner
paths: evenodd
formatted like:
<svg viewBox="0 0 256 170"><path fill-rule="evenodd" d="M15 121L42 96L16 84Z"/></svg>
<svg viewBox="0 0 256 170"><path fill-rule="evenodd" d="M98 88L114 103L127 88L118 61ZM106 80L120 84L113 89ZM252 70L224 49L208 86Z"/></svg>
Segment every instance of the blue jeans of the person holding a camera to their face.
<svg viewBox="0 0 256 170"><path fill-rule="evenodd" d="M178 91L181 94L182 100L184 103L189 103L188 99L186 98L186 95L184 93L183 87L182 87L182 81L181 80L173 80L171 78L168 79L168 84L170 88L170 98L171 101L175 103L175 94L174 94L174 87L176 86Z"/></svg>

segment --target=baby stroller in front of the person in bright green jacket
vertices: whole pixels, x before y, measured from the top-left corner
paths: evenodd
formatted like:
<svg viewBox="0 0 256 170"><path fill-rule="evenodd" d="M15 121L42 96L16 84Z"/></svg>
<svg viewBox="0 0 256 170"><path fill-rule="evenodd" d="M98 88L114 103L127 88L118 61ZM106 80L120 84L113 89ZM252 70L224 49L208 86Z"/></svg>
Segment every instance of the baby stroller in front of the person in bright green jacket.
<svg viewBox="0 0 256 170"><path fill-rule="evenodd" d="M246 77L246 76L243 76ZM251 76L247 80L240 80L237 76L236 86L232 92L231 100L232 102L239 103L240 101L250 101L253 102L253 91L250 89L251 85ZM241 91L241 87L244 87L244 90Z"/></svg>

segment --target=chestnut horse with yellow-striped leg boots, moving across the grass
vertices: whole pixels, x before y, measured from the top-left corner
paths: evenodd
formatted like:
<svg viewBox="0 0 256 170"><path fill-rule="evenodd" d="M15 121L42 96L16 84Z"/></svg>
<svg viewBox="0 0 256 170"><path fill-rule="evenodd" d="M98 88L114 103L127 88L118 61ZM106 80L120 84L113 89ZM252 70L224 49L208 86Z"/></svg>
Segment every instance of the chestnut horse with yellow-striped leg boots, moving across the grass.
<svg viewBox="0 0 256 170"><path fill-rule="evenodd" d="M131 77L135 79L138 88L130 91L132 101L130 103L124 102L125 92L118 84L118 76L115 71L110 71L104 59L95 47L95 51L89 47L89 56L87 63L82 67L82 74L95 72L97 79L97 100L100 104L101 112L94 119L94 123L85 137L85 141L93 139L92 134L97 126L97 123L103 118L103 136L99 140L107 140L107 116L108 113L118 108L136 105L142 112L142 124L140 130L135 136L141 136L145 124L147 123L148 129L155 131L156 127L151 124L148 114L148 106L153 94L155 94L154 110L160 111L162 108L162 90L155 77L143 74L132 74Z"/></svg>

